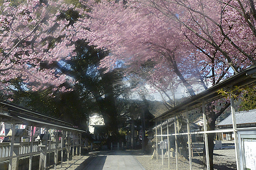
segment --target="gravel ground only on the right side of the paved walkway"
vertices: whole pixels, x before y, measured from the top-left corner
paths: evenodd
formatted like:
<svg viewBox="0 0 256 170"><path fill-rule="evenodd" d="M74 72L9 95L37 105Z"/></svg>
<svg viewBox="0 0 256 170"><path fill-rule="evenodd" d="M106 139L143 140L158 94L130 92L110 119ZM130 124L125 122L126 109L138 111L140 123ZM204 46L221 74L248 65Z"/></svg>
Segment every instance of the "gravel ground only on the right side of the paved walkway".
<svg viewBox="0 0 256 170"><path fill-rule="evenodd" d="M161 156L161 155L160 155ZM136 156L137 160L144 166L146 170L168 170L168 158L164 158L164 164L162 165L162 159L159 158L158 162L151 159L151 155ZM202 169L203 156L194 156L192 158L192 169ZM214 169L215 170L233 170L236 169L236 154L234 149L222 149L214 150ZM170 158L170 169L176 170L176 159ZM178 158L178 169L188 170L189 161L185 158Z"/></svg>

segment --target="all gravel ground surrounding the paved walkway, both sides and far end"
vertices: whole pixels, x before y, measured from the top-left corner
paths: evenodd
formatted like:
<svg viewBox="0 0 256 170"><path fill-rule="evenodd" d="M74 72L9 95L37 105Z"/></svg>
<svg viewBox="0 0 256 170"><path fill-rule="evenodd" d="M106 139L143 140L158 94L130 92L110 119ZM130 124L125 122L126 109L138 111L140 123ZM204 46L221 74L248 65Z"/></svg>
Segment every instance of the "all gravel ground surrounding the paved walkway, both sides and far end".
<svg viewBox="0 0 256 170"><path fill-rule="evenodd" d="M201 145L201 144L200 144ZM233 170L236 169L236 154L235 150L232 147L234 143L224 143L223 146L225 149L214 150L214 170ZM198 145L199 146L199 145ZM198 147L197 146L197 147ZM199 146L200 148L200 146ZM199 150L199 149L198 149ZM202 155L201 152L195 152L194 157L192 157L192 169L201 170L202 169L202 159L203 156L196 156L198 154ZM137 160L144 166L146 170L169 170L168 169L168 158L164 158L164 164L162 165L161 155L156 160L151 159L151 155L141 154L141 150L124 150L124 151L100 151L100 152L91 152L86 156L74 156L74 160L63 162L62 168L60 168L60 162L56 167L58 170L84 170L86 166L95 158L96 155L133 155ZM47 168L48 170L53 170L54 166ZM176 170L176 159L170 158L170 169ZM185 158L178 158L178 169L179 170L188 170L189 161Z"/></svg>

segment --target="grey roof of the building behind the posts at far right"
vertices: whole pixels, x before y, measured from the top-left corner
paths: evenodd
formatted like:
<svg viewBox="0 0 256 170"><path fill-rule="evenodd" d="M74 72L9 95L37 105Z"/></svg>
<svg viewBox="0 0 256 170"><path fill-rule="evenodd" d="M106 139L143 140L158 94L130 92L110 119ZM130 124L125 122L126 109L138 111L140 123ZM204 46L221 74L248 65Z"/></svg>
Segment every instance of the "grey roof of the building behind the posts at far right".
<svg viewBox="0 0 256 170"><path fill-rule="evenodd" d="M256 123L256 109L248 111L237 111L235 112L235 115L236 124ZM226 119L218 123L217 126L223 125L232 125L231 114Z"/></svg>

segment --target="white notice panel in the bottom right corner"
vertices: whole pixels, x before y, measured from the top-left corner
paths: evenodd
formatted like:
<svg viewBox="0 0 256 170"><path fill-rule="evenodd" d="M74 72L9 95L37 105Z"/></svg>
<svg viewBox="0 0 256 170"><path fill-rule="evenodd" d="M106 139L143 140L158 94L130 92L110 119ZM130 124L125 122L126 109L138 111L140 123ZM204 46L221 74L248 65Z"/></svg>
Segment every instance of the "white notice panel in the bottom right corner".
<svg viewBox="0 0 256 170"><path fill-rule="evenodd" d="M246 169L256 170L256 141L244 141Z"/></svg>

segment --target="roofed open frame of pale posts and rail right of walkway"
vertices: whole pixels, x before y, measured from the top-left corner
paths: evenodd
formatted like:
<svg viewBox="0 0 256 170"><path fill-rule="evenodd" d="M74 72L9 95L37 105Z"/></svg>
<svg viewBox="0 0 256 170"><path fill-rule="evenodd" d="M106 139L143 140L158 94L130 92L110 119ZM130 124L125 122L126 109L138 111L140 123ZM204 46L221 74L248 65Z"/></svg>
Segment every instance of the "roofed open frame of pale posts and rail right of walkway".
<svg viewBox="0 0 256 170"><path fill-rule="evenodd" d="M234 98L232 98L232 95L230 95L230 102L231 102L231 117L232 117L232 129L222 129L222 130L214 130L214 131L208 131L207 126L206 126L206 112L205 112L205 104L213 102L215 100L218 100L220 98L223 98L222 94L218 93L218 90L224 89L224 90L232 90L235 88L235 86L238 87L243 87L243 86L255 86L256 85L256 65L253 65L238 74L223 80L219 84L216 84L215 86L212 86L208 88L207 90L192 96L190 99L182 102L178 106L173 107L169 111L166 111L165 113L155 117L153 120L156 122L156 127L157 124L160 122L160 131L161 133L158 133L158 128L155 129L155 134L156 136L159 137L167 137L168 139L168 167L170 168L170 160L169 160L169 155L170 155L170 136L175 137L175 152L176 155L178 154L178 143L177 143L177 137L178 135L187 135L188 136L188 151L189 151L189 162L190 162L190 170L192 169L192 152L191 152L191 140L190 140L190 135L192 134L204 134L204 141L205 141L205 148L206 148L206 162L207 162L207 169L210 170L209 166L209 152L208 152L208 138L207 135L209 133L222 133L222 132L232 132L234 134L234 143L235 143L235 150L236 150L236 167L238 170L244 169L244 161L241 161L241 154L243 152L241 151L241 143L238 142L238 132L239 131L246 131L246 130L252 130L253 128L256 129L255 127L253 128L238 128L237 123L236 123L236 117L235 117L235 109L234 109ZM187 132L186 133L177 133L177 126L176 126L176 116L183 113L186 116L187 120L187 125L189 125L189 119L188 119L188 111L195 109L197 107L202 107L202 116L204 120L204 131L200 132L191 132L190 128L188 126ZM162 120L167 119L167 125L169 123L168 119L170 117L174 117L174 132L175 133L170 133L169 130L167 129L167 133L163 134L162 132ZM157 140L158 138L156 138ZM156 142L156 145L158 144L158 141ZM239 144L239 145L238 145ZM158 147L156 147L157 149ZM158 157L157 157L158 160ZM176 169L178 170L178 157L176 156Z"/></svg>

